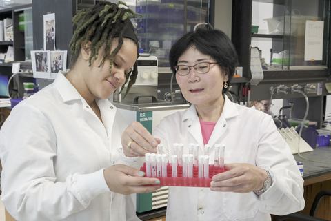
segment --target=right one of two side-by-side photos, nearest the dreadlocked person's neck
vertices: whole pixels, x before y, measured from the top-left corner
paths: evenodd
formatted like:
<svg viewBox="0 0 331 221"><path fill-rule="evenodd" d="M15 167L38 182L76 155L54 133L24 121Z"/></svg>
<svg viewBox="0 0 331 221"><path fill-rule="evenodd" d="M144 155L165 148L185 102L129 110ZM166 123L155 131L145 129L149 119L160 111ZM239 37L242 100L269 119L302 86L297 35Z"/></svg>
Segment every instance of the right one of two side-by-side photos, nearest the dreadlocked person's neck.
<svg viewBox="0 0 331 221"><path fill-rule="evenodd" d="M55 79L60 70L67 70L67 51L52 50L50 51L50 77Z"/></svg>

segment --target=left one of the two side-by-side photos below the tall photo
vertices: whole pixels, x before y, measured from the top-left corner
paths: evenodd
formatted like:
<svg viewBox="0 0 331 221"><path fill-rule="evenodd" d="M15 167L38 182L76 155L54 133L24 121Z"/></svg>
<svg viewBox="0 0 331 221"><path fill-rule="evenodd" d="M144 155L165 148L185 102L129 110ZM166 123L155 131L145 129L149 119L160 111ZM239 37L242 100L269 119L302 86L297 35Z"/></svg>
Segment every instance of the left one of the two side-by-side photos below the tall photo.
<svg viewBox="0 0 331 221"><path fill-rule="evenodd" d="M50 51L32 50L33 77L50 79Z"/></svg>

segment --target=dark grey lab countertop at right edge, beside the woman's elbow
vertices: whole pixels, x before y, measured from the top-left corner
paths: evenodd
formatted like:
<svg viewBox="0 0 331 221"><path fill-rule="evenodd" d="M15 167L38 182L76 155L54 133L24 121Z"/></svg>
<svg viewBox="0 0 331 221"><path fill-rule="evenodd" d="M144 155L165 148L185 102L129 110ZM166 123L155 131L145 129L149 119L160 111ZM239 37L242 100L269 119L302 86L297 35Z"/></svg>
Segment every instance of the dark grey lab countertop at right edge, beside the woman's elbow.
<svg viewBox="0 0 331 221"><path fill-rule="evenodd" d="M315 148L314 151L301 153L301 156L309 160L321 161L312 162L299 157L298 154L294 154L294 159L297 162L303 162L303 180L331 174L330 146L321 146Z"/></svg>

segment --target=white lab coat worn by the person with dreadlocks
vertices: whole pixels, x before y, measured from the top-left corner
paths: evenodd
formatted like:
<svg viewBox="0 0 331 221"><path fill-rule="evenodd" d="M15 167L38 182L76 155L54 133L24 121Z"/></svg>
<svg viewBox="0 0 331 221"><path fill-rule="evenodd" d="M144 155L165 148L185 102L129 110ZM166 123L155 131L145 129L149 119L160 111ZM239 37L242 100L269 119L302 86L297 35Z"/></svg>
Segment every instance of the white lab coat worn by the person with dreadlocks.
<svg viewBox="0 0 331 221"><path fill-rule="evenodd" d="M103 176L122 163L126 121L107 99L97 105L103 124L59 73L12 109L0 131L1 200L16 220L139 220Z"/></svg>

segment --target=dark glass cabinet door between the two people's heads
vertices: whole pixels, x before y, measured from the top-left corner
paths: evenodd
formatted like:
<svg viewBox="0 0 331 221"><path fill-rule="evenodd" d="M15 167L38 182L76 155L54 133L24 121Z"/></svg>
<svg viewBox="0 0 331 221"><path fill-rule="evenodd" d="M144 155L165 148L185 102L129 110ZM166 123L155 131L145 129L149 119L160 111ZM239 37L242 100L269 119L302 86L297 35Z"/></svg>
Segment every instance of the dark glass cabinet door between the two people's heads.
<svg viewBox="0 0 331 221"><path fill-rule="evenodd" d="M141 52L157 56L159 67L169 67L169 52L184 33L209 22L208 0L137 0L137 37ZM210 22L209 22L210 23Z"/></svg>

